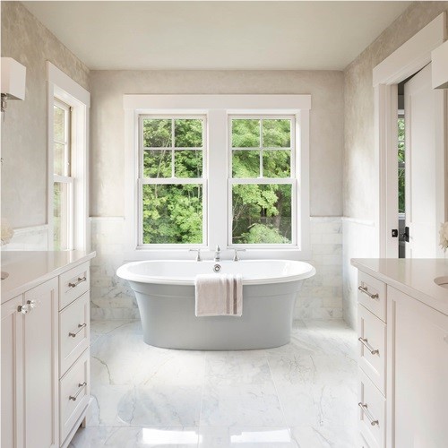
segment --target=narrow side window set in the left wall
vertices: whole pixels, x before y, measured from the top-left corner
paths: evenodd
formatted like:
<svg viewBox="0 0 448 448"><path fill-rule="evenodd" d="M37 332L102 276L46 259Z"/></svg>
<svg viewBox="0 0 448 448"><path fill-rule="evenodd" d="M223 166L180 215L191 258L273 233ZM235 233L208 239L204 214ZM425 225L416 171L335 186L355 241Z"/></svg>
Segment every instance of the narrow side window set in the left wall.
<svg viewBox="0 0 448 448"><path fill-rule="evenodd" d="M72 109L53 106L53 247L73 248Z"/></svg>

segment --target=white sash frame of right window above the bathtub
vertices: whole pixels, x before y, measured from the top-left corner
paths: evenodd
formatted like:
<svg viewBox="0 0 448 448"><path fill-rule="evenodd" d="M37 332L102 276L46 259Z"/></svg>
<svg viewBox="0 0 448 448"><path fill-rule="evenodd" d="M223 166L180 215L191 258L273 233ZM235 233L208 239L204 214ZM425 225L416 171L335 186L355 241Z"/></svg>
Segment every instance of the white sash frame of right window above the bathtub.
<svg viewBox="0 0 448 448"><path fill-rule="evenodd" d="M269 120L269 119L289 119L291 120L291 159L290 159L290 177L233 177L232 176L232 154L234 148L232 148L232 125L233 119L255 119L255 120ZM262 133L262 128L260 127L260 133ZM287 247L298 248L297 245L297 125L295 115L229 115L228 116L228 247L230 248L248 248L251 249L284 249ZM262 136L260 135L260 144L262 142ZM244 148L238 149L238 151L261 151L260 148ZM278 148L276 151L285 151L284 149ZM291 243L290 244L236 244L233 243L233 216L232 216L232 186L233 185L291 185Z"/></svg>

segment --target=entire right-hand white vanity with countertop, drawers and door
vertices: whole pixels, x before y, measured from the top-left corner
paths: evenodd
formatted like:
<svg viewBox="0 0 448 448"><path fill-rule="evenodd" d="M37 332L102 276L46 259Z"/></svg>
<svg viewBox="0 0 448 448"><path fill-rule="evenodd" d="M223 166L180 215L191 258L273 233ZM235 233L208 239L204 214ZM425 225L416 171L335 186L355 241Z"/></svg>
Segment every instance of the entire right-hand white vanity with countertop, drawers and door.
<svg viewBox="0 0 448 448"><path fill-rule="evenodd" d="M358 268L359 447L446 448L448 260Z"/></svg>

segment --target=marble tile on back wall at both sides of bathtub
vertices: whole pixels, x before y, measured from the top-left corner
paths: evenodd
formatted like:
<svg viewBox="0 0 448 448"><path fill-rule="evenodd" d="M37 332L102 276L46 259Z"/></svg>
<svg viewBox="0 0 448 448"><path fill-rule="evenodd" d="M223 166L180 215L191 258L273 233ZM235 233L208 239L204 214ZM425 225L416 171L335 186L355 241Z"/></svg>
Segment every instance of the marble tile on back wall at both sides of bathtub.
<svg viewBox="0 0 448 448"><path fill-rule="evenodd" d="M116 269L125 263L123 218L92 218L90 315L98 319L138 319L134 293ZM312 259L316 275L297 297L296 319L342 318L342 231L340 217L311 219Z"/></svg>

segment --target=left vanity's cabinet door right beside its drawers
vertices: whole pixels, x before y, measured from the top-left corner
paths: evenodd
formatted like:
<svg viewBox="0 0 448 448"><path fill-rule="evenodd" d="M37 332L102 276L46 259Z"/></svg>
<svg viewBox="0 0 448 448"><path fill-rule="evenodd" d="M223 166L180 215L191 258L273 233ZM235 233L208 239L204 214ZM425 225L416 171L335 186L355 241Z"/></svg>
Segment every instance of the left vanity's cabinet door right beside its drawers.
<svg viewBox="0 0 448 448"><path fill-rule="evenodd" d="M35 305L25 316L25 444L49 448L57 444L57 279L24 295Z"/></svg>

